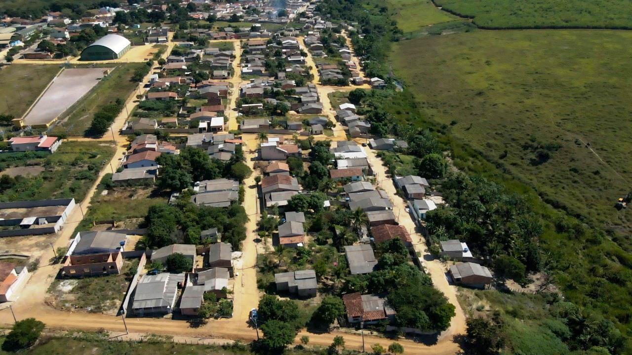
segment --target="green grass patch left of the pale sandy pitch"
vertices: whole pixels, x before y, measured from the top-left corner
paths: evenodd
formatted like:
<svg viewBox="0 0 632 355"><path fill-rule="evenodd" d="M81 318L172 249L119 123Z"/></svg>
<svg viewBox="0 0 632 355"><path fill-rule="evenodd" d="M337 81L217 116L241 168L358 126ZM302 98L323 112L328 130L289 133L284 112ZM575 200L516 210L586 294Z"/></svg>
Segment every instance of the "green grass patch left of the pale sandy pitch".
<svg viewBox="0 0 632 355"><path fill-rule="evenodd" d="M0 69L0 112L21 117L60 70L56 65L23 64Z"/></svg>

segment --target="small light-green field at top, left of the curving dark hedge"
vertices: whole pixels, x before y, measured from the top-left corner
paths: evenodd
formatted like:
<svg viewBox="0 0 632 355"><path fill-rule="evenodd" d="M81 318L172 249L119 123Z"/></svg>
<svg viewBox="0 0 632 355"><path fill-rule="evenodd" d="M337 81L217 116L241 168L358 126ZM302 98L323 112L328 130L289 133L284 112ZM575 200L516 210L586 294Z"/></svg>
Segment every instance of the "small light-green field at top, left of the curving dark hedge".
<svg viewBox="0 0 632 355"><path fill-rule="evenodd" d="M428 25L457 20L458 17L435 8L430 0L387 0L399 28L414 32Z"/></svg>

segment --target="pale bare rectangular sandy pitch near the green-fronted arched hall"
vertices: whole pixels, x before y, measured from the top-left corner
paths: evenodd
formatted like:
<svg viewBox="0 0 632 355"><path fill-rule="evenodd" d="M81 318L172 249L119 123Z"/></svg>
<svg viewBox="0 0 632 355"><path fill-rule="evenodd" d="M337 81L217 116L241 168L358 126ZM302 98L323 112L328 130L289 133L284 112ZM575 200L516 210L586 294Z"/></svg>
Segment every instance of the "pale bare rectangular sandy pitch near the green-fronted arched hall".
<svg viewBox="0 0 632 355"><path fill-rule="evenodd" d="M24 125L37 128L47 126L98 85L99 80L104 78L103 72L108 69L112 68L64 69L24 117Z"/></svg>

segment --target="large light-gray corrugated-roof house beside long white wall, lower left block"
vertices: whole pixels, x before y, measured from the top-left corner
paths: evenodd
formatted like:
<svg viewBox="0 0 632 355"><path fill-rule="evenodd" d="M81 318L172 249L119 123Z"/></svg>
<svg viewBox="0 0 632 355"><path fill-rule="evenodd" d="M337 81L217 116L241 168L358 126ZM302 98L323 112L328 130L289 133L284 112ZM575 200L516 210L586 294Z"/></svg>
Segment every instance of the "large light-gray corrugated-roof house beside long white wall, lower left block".
<svg viewBox="0 0 632 355"><path fill-rule="evenodd" d="M143 275L138 282L132 303L135 315L167 315L173 311L178 296L178 283L185 282L185 274Z"/></svg>

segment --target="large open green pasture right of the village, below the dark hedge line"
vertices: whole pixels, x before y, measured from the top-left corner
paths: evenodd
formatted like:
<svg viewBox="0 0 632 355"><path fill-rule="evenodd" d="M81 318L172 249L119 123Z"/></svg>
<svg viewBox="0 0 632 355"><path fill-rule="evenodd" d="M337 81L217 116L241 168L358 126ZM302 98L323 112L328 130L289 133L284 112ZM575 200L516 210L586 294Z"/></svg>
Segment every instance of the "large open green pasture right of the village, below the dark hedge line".
<svg viewBox="0 0 632 355"><path fill-rule="evenodd" d="M394 45L392 64L432 119L545 201L629 231L632 33L474 31ZM411 65L414 63L414 65Z"/></svg>

